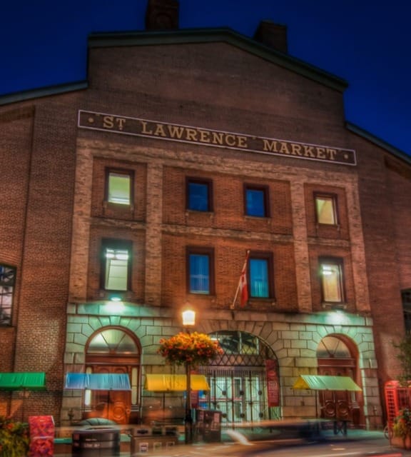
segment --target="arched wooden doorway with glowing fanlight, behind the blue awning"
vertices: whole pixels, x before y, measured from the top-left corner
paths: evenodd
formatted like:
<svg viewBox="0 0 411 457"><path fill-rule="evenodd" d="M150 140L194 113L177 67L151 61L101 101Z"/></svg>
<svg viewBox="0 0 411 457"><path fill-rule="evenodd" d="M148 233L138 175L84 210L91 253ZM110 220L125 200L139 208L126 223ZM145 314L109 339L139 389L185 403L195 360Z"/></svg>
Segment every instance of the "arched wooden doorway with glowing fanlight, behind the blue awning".
<svg viewBox="0 0 411 457"><path fill-rule="evenodd" d="M86 344L86 373L127 373L130 391L86 391L85 418L106 418L119 424L138 422L140 345L123 328L104 328Z"/></svg>

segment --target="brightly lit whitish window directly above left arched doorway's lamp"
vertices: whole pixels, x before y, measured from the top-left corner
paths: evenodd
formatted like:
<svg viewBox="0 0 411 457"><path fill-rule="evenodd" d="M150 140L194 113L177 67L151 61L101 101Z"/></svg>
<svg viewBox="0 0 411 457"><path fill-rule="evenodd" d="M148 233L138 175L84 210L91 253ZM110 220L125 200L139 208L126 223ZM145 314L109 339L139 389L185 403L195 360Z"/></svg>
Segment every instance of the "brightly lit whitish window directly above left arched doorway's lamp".
<svg viewBox="0 0 411 457"><path fill-rule="evenodd" d="M131 242L103 240L101 284L107 291L127 291L131 278Z"/></svg>

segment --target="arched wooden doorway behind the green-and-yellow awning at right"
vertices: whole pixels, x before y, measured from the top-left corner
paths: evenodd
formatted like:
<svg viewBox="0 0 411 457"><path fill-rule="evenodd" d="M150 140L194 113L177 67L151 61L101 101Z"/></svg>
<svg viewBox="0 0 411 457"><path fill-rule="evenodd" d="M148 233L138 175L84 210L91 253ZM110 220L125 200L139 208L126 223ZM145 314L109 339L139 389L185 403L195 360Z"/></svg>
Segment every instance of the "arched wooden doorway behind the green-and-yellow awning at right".
<svg viewBox="0 0 411 457"><path fill-rule="evenodd" d="M357 382L357 348L343 335L325 336L317 348L318 374L349 376ZM362 422L362 396L357 392L319 391L321 416L333 420L350 421L354 426Z"/></svg>

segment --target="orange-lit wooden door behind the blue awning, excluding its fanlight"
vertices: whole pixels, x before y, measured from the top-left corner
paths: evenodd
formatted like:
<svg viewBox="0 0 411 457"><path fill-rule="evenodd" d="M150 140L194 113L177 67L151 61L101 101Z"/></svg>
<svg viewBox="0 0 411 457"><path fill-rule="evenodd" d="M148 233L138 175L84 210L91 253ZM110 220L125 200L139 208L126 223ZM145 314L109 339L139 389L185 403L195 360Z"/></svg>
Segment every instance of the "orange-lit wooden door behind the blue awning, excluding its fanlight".
<svg viewBox="0 0 411 457"><path fill-rule="evenodd" d="M94 366L93 373L128 373L127 366ZM119 424L128 423L131 410L130 391L92 391L93 416Z"/></svg>

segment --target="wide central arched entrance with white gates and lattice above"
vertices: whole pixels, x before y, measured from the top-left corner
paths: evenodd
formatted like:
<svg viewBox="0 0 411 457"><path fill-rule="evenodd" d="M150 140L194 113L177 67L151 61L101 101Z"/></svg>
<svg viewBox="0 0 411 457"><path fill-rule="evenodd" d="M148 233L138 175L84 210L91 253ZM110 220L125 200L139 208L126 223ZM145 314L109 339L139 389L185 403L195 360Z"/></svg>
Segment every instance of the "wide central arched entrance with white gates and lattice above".
<svg viewBox="0 0 411 457"><path fill-rule="evenodd" d="M218 339L224 353L200 368L210 385L200 406L221 411L223 422L280 418L278 362L273 350L243 331L218 331L210 336Z"/></svg>

